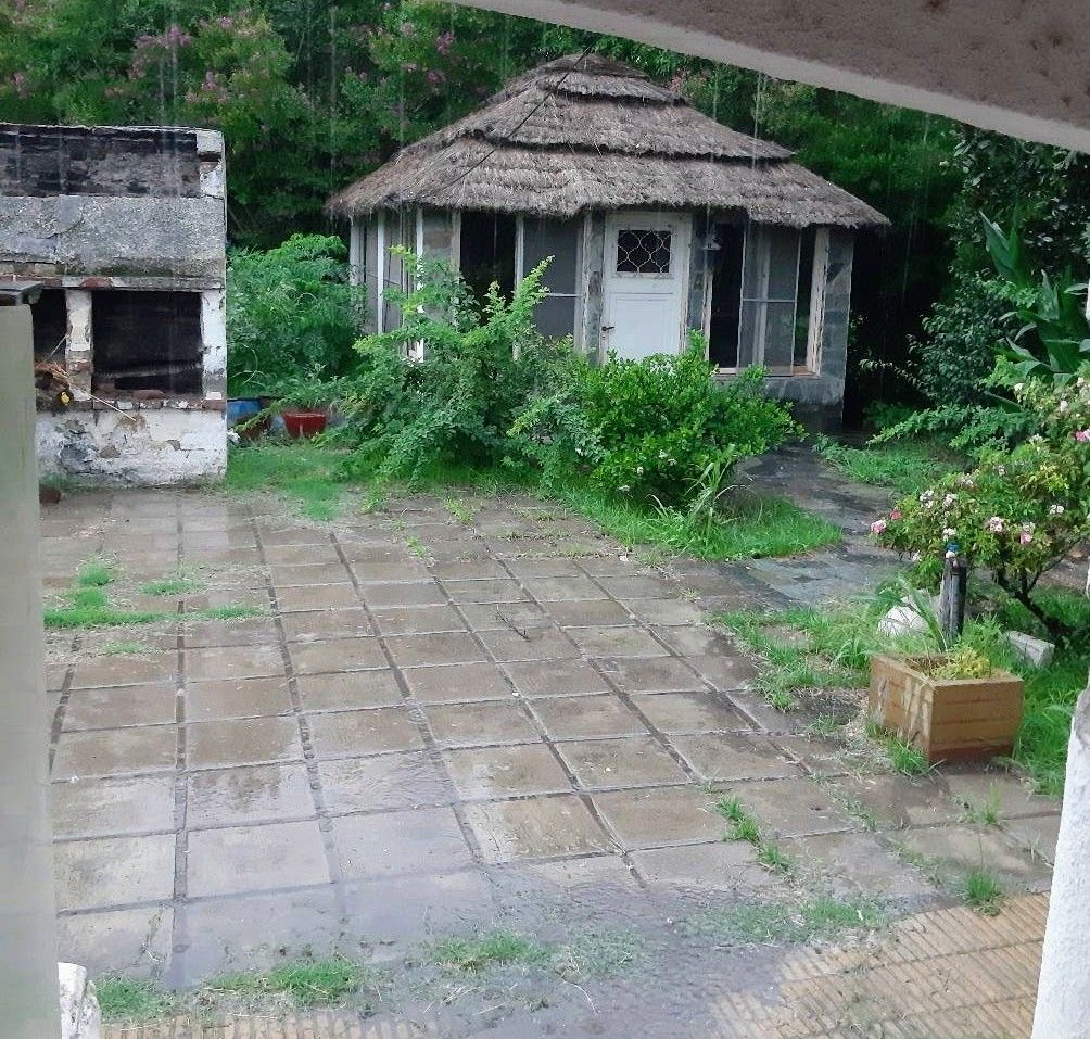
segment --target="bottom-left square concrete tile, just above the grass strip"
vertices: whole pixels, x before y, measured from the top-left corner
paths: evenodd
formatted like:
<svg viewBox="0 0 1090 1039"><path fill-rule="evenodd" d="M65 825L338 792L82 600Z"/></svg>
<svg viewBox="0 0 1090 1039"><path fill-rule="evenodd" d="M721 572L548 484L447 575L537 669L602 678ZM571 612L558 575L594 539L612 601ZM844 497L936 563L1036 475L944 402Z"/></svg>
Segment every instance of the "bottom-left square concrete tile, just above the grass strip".
<svg viewBox="0 0 1090 1039"><path fill-rule="evenodd" d="M57 918L57 950L98 978L159 978L170 959L174 910L170 905L76 913Z"/></svg>

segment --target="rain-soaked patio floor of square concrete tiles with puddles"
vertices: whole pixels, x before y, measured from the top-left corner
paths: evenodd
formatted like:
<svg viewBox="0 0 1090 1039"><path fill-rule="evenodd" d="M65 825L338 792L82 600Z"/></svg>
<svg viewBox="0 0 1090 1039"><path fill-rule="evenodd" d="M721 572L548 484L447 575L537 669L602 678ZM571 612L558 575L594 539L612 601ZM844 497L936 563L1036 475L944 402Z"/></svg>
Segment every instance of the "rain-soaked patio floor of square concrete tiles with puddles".
<svg viewBox="0 0 1090 1039"><path fill-rule="evenodd" d="M63 958L187 987L338 950L411 978L421 943L502 929L582 966L465 982L469 1002L425 972L402 996L472 1007L449 1035L572 1015L565 1034L729 1035L715 1004L774 993L795 933L754 937L754 906L896 915L980 863L1047 886L1056 802L1004 773L884 771L773 710L704 624L847 593L868 555L891 565L862 541L664 569L530 498L455 506L317 524L271 498L117 492L46 511L49 594L102 556L112 606L170 612L50 639ZM261 614L201 613L225 606ZM725 794L789 871L723 839Z"/></svg>

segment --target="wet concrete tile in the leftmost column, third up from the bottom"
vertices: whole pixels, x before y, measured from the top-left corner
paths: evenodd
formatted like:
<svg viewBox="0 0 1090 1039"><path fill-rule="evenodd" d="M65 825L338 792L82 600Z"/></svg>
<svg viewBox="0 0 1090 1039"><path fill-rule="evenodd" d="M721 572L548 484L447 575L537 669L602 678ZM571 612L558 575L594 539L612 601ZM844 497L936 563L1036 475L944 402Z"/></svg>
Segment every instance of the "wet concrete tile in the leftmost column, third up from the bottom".
<svg viewBox="0 0 1090 1039"><path fill-rule="evenodd" d="M95 837L174 829L174 777L124 776L53 783L53 836Z"/></svg>

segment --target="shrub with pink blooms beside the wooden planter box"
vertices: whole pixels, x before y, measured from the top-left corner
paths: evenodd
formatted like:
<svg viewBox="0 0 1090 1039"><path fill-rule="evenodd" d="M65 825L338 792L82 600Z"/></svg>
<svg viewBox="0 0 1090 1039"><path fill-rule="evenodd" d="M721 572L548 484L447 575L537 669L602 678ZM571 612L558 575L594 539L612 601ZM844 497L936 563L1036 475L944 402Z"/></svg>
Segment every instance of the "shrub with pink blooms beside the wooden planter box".
<svg viewBox="0 0 1090 1039"><path fill-rule="evenodd" d="M880 543L941 559L956 544L1050 632L1070 632L1036 592L1040 579L1090 537L1090 367L1067 386L1033 382L1015 396L1040 432L1009 451L982 457L876 520Z"/></svg>

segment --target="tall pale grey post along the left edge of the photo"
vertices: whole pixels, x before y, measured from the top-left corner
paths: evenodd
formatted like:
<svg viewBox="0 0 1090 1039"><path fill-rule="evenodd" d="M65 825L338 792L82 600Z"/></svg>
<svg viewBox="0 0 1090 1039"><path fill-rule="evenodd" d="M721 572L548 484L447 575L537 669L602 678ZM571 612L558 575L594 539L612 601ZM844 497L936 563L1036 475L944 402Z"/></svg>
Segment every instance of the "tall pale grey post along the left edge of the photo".
<svg viewBox="0 0 1090 1039"><path fill-rule="evenodd" d="M48 1039L61 1030L34 425L31 307L0 305L0 1031L4 1039Z"/></svg>

